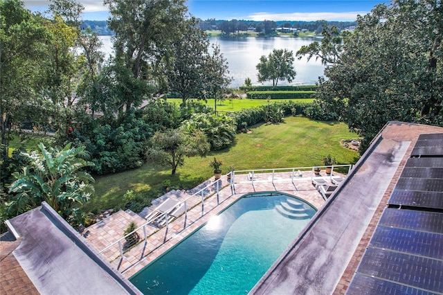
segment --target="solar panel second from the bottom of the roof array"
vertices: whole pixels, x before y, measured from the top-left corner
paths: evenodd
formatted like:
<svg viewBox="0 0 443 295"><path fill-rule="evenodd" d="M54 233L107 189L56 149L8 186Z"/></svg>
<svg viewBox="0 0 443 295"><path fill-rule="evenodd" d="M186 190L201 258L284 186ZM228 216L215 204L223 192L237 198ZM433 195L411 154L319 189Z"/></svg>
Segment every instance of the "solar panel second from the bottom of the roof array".
<svg viewBox="0 0 443 295"><path fill-rule="evenodd" d="M429 292L443 292L442 260L368 248L357 272Z"/></svg>

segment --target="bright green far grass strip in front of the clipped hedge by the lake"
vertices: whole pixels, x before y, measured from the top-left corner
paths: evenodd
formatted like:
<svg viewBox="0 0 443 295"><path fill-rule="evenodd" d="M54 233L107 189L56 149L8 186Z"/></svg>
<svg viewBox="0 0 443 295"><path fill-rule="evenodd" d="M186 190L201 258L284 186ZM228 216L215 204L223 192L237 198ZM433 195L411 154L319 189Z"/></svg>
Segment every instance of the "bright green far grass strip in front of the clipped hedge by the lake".
<svg viewBox="0 0 443 295"><path fill-rule="evenodd" d="M284 102L291 100L293 102L312 102L314 98L297 98L297 99L273 99L273 102ZM168 102L174 102L176 105L181 104L181 98L168 98ZM214 100L208 99L208 102L201 100L201 103L208 105L214 109ZM261 105L267 105L268 101L265 99L232 99L217 101L217 111L241 111L242 109L251 109L251 107L260 107Z"/></svg>

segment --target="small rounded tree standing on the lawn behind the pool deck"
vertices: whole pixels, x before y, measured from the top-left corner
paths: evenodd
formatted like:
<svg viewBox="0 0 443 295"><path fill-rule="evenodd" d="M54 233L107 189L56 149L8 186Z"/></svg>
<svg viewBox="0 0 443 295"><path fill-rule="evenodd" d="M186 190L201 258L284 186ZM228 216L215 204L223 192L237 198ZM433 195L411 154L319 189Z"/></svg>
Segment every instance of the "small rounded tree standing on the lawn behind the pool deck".
<svg viewBox="0 0 443 295"><path fill-rule="evenodd" d="M210 150L206 135L197 130L193 134L181 129L169 129L165 132L156 132L152 136L152 148L148 157L155 163L170 166L171 175L175 175L177 167L183 166L185 157L204 157Z"/></svg>

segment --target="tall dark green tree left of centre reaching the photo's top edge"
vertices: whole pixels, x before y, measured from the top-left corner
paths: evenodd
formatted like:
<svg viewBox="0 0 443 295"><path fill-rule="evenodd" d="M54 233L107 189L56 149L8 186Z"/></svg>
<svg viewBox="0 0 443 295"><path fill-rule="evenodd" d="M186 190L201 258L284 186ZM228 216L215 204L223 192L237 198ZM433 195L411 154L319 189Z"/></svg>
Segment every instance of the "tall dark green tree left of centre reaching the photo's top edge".
<svg viewBox="0 0 443 295"><path fill-rule="evenodd" d="M170 44L180 39L179 24L187 8L184 0L105 0L105 5L115 33L113 63L124 74L123 80L115 80L120 89L118 108L129 113L149 99L152 85L163 79L163 57L171 55Z"/></svg>

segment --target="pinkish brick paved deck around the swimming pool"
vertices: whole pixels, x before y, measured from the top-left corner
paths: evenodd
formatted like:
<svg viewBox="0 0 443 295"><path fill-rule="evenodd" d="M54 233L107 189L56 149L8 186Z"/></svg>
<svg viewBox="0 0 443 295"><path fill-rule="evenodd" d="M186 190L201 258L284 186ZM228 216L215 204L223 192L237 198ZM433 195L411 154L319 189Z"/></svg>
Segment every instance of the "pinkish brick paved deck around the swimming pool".
<svg viewBox="0 0 443 295"><path fill-rule="evenodd" d="M335 172L334 175L343 176ZM183 238L186 238L187 235L198 229L199 226L208 222L211 217L217 215L247 193L279 191L300 197L317 209L325 204L325 200L311 183L311 171L304 171L302 177L293 177L293 180L291 180L290 172L275 172L274 175L271 173L256 173L255 176L257 178L251 181L248 180L247 175L235 175L233 186L230 186L226 177L222 177L219 180L218 202L216 192L213 192L210 197L206 195L202 213L201 197L199 195L191 197L188 200L188 208L190 209L188 209L187 216L181 215L161 229L150 225L145 226L147 242L143 241L145 233L141 229L138 234L141 236L142 242L125 252L123 259L120 256L118 244L106 251L102 250L109 244L123 238L123 232L129 222L135 221L138 226L145 224L147 221L143 217L131 211L118 211L110 217L89 226L82 234L91 246L99 252L102 251L102 255L111 262L113 267L118 269L126 278L130 278L152 260L161 256L165 251L168 251ZM325 171L321 172L320 177L329 180L329 176L325 174ZM213 181L213 179L210 180ZM190 195L182 194L174 199L183 201L186 197L190 197ZM156 206L158 204L152 207Z"/></svg>

